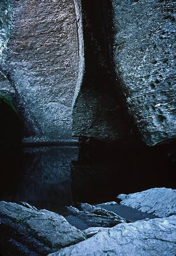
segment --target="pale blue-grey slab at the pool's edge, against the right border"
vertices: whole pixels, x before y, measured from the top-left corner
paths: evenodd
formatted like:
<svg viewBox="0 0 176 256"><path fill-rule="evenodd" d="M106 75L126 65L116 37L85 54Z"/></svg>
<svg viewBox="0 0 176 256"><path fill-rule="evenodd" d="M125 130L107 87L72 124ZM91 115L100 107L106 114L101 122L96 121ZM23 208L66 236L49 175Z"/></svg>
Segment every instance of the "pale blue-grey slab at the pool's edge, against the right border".
<svg viewBox="0 0 176 256"><path fill-rule="evenodd" d="M176 214L175 189L154 188L130 195L121 194L118 198L122 200L122 205L153 213L159 217Z"/></svg>

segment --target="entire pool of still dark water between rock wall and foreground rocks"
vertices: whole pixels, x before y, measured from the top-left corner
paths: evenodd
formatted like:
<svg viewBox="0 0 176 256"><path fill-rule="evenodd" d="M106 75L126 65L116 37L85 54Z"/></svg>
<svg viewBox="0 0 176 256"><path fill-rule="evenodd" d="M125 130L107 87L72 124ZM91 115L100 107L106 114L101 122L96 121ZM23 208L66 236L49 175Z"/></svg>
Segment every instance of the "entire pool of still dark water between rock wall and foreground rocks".
<svg viewBox="0 0 176 256"><path fill-rule="evenodd" d="M79 155L79 157L78 157ZM61 212L61 205L115 201L120 193L175 188L174 147L1 148L0 200L26 201Z"/></svg>

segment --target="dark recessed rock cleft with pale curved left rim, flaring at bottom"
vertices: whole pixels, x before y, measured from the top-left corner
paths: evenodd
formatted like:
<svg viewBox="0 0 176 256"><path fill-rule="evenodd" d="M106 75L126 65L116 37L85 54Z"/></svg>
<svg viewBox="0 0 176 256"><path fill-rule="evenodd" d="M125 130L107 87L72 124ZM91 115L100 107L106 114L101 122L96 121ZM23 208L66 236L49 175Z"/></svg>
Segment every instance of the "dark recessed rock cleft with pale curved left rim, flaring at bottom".
<svg viewBox="0 0 176 256"><path fill-rule="evenodd" d="M72 108L72 134L118 140L130 133L115 91L110 49L110 2L74 0L78 23L79 73Z"/></svg>

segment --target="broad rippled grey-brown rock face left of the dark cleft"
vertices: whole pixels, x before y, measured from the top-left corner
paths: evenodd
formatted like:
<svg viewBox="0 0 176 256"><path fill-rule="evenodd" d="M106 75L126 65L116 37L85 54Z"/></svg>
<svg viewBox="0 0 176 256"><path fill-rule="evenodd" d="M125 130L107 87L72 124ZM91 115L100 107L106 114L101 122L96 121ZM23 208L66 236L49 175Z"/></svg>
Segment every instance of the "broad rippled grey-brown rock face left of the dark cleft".
<svg viewBox="0 0 176 256"><path fill-rule="evenodd" d="M24 142L71 138L71 105L78 71L72 0L14 1L6 73L19 94Z"/></svg>

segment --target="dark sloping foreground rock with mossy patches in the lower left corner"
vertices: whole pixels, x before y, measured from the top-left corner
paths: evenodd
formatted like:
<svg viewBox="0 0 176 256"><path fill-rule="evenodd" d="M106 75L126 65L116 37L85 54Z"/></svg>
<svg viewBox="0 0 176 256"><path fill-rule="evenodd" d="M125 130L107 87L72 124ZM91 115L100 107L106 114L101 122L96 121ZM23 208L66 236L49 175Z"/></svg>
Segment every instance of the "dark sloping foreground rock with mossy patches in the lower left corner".
<svg viewBox="0 0 176 256"><path fill-rule="evenodd" d="M44 255L85 239L61 215L4 201L0 202L0 222L4 236L9 232L11 239Z"/></svg>

